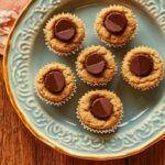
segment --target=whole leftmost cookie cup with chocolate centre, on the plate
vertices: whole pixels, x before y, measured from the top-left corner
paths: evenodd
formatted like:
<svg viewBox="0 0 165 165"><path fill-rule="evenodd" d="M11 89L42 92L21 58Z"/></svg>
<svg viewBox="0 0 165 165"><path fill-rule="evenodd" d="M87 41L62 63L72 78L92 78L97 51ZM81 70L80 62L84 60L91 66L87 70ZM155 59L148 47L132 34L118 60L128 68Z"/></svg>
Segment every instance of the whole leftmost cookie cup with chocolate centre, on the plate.
<svg viewBox="0 0 165 165"><path fill-rule="evenodd" d="M45 65L35 78L37 96L48 105L62 106L76 92L76 79L69 67L59 63Z"/></svg>

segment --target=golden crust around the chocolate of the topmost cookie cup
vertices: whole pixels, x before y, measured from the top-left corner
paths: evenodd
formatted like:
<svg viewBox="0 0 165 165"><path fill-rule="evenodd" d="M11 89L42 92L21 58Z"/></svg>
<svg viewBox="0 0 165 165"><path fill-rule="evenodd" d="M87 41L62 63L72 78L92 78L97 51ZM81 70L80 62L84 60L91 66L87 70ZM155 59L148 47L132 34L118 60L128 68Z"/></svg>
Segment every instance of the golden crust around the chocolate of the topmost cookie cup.
<svg viewBox="0 0 165 165"><path fill-rule="evenodd" d="M114 11L122 12L128 19L128 26L121 35L114 35L103 26L103 20L106 15ZM119 46L124 45L135 35L138 30L138 22L130 9L122 6L112 6L100 11L96 19L95 30L102 41L110 45Z"/></svg>

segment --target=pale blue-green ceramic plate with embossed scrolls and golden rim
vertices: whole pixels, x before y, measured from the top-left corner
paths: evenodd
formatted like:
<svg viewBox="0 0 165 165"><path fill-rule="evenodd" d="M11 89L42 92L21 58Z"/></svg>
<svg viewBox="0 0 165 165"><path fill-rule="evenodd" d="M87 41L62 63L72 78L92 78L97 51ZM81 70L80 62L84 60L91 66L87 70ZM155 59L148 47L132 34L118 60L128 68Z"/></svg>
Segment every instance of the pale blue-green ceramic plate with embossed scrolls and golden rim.
<svg viewBox="0 0 165 165"><path fill-rule="evenodd" d="M59 57L46 47L43 28L47 19L59 12L73 12L86 24L87 35L82 47L103 45L95 35L94 22L97 13L111 4L131 8L140 30L136 37L124 47L111 48L119 70L107 89L120 96L124 105L124 117L116 133L98 135L84 130L75 113L79 97L94 88L77 77L75 97L56 108L45 105L36 97L34 78L42 66L52 62L64 63L75 72L77 54ZM121 158L135 154L165 134L165 81L155 89L141 92L124 82L120 74L125 53L141 45L157 50L165 61L164 0L35 0L24 10L9 37L4 56L8 94L25 125L54 148L91 160Z"/></svg>

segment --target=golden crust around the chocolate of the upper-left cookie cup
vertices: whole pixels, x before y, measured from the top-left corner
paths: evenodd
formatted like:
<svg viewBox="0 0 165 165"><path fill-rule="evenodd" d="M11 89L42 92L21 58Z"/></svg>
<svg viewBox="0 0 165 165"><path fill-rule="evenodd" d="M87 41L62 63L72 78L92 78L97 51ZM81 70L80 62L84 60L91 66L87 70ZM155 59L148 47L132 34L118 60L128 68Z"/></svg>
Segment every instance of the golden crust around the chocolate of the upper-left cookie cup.
<svg viewBox="0 0 165 165"><path fill-rule="evenodd" d="M72 20L76 24L76 28L77 28L76 36L74 37L72 42L68 42L68 43L62 42L54 37L54 30L53 30L54 23L57 20L64 19L64 18ZM80 46L85 37L85 25L82 21L78 19L77 16L70 13L62 13L62 14L54 15L47 22L44 29L44 33L45 33L45 40L48 46L51 46L51 48L53 48L55 52L67 54L67 53L72 53L76 51Z"/></svg>

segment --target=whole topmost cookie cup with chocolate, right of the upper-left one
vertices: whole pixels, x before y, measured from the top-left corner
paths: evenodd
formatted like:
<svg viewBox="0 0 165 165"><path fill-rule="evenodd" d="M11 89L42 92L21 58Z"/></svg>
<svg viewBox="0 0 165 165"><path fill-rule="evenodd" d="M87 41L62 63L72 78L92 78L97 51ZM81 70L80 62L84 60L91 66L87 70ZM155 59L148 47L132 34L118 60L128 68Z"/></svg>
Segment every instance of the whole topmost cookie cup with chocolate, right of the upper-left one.
<svg viewBox="0 0 165 165"><path fill-rule="evenodd" d="M96 34L109 46L123 46L138 33L138 21L129 8L111 6L97 15Z"/></svg>

